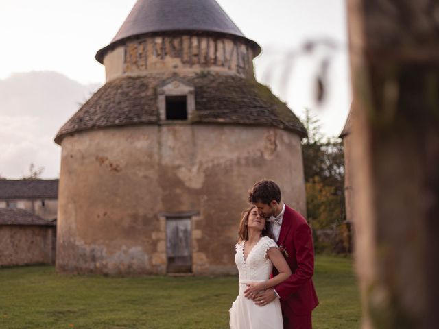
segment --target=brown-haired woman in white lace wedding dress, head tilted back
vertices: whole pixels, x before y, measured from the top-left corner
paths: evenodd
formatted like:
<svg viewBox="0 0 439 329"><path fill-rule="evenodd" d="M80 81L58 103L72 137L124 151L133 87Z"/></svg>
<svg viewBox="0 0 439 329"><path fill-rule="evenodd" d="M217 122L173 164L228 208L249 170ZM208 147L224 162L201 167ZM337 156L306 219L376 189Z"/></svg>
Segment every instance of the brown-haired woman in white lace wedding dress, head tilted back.
<svg viewBox="0 0 439 329"><path fill-rule="evenodd" d="M235 263L239 270L239 295L230 308L231 329L282 329L281 303L278 299L257 306L251 299L260 291L272 289L291 275L276 243L270 238L270 223L259 215L256 206L244 211L239 223ZM270 279L272 269L278 275ZM244 297L244 293L250 298Z"/></svg>

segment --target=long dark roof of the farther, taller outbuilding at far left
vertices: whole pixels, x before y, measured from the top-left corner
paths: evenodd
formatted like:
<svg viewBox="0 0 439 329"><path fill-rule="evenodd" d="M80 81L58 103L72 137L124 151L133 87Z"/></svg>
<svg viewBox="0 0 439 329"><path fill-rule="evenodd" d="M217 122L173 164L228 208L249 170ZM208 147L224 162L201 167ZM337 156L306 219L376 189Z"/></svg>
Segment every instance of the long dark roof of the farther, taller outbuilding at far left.
<svg viewBox="0 0 439 329"><path fill-rule="evenodd" d="M0 180L0 199L58 197L58 180Z"/></svg>

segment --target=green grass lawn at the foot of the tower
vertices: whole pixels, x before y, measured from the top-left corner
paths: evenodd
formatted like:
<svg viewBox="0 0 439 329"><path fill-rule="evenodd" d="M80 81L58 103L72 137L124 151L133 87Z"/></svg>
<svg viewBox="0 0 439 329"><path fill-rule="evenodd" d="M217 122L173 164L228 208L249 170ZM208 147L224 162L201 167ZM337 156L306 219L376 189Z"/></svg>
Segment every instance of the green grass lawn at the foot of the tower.
<svg viewBox="0 0 439 329"><path fill-rule="evenodd" d="M317 256L320 305L313 328L358 328L349 258ZM0 268L0 328L228 328L237 278L107 278L58 275L54 267Z"/></svg>

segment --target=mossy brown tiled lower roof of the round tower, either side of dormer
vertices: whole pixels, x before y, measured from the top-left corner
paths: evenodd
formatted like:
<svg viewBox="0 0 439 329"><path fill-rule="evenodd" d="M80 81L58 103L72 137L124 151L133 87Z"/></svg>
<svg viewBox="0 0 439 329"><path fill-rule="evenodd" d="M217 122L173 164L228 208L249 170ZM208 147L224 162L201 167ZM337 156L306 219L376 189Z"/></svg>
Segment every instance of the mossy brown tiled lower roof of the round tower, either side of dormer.
<svg viewBox="0 0 439 329"><path fill-rule="evenodd" d="M203 75L187 79L195 86L192 123L268 125L307 136L305 127L285 103L255 80L231 75ZM99 127L158 123L156 80L121 77L107 82L76 112L56 135Z"/></svg>

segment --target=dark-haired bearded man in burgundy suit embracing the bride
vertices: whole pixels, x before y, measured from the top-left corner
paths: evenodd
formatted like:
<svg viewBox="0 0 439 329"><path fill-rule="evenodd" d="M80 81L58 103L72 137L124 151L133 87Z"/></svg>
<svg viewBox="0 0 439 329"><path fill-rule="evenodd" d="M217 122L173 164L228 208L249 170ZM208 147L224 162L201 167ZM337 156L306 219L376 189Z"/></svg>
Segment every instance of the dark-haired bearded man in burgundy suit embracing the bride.
<svg viewBox="0 0 439 329"><path fill-rule="evenodd" d="M284 329L311 329L311 311L318 305L312 281L314 251L311 229L305 218L281 201L281 188L272 180L261 180L249 191L249 202L271 221L272 234L285 256L292 275L274 289L253 298L264 306L279 298ZM276 269L273 275L276 275ZM250 297L247 291L246 297Z"/></svg>

